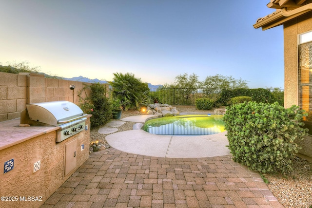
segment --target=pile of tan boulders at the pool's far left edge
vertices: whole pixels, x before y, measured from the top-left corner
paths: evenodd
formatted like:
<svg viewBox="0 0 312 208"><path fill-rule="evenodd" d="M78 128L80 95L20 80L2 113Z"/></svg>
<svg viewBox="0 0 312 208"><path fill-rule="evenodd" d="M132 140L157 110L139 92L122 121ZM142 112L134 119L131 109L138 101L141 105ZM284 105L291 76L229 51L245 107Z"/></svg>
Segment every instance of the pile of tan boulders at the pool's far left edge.
<svg viewBox="0 0 312 208"><path fill-rule="evenodd" d="M168 116L180 114L180 112L176 110L176 107L161 103L150 104L147 106L146 110L148 115Z"/></svg>

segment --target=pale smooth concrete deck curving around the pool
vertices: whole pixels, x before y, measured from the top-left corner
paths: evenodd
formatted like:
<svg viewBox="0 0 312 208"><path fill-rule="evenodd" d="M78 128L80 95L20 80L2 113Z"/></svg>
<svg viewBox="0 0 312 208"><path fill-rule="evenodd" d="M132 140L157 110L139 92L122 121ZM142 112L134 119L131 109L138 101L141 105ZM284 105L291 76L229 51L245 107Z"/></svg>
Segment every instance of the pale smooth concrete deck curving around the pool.
<svg viewBox="0 0 312 208"><path fill-rule="evenodd" d="M151 117L156 116L136 115L121 121L144 123ZM200 136L156 135L137 129L112 133L105 139L111 147L128 153L168 158L200 158L230 154L225 134L226 132Z"/></svg>

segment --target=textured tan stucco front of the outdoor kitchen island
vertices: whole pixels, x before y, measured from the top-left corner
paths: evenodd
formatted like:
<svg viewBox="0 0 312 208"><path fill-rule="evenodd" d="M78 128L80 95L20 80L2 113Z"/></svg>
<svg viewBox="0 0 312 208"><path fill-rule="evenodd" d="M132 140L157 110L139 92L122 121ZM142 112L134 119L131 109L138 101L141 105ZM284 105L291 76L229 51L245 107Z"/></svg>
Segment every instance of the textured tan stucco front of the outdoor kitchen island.
<svg viewBox="0 0 312 208"><path fill-rule="evenodd" d="M19 119L17 120L18 125ZM56 131L53 131L0 150L0 196L18 199L1 201L0 207L31 208L42 205L89 158L90 118L87 119L86 125L88 130L59 143L56 143ZM23 131L27 134L27 129ZM73 140L77 140L77 164L73 171L64 176L64 147ZM82 151L81 145L84 145ZM3 164L12 158L14 168L3 173ZM34 172L34 163L39 160L40 169ZM23 196L37 196L41 201L20 201L20 197Z"/></svg>

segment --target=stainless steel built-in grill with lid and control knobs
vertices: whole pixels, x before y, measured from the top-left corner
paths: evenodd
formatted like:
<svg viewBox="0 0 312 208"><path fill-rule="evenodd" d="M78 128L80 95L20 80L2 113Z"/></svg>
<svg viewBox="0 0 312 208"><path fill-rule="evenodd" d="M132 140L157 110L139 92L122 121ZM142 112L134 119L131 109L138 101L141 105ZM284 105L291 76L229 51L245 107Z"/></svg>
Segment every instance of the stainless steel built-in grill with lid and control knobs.
<svg viewBox="0 0 312 208"><path fill-rule="evenodd" d="M20 115L21 125L59 126L56 142L61 142L85 129L87 115L74 103L53 101L26 104Z"/></svg>

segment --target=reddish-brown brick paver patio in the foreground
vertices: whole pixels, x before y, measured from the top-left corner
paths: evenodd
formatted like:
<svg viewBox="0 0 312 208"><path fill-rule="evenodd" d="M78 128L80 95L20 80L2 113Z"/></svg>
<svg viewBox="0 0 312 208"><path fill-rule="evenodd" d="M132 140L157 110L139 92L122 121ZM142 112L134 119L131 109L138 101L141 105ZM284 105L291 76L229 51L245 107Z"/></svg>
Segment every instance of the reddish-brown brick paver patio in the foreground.
<svg viewBox="0 0 312 208"><path fill-rule="evenodd" d="M90 158L42 208L283 208L231 155L161 158L110 148Z"/></svg>

